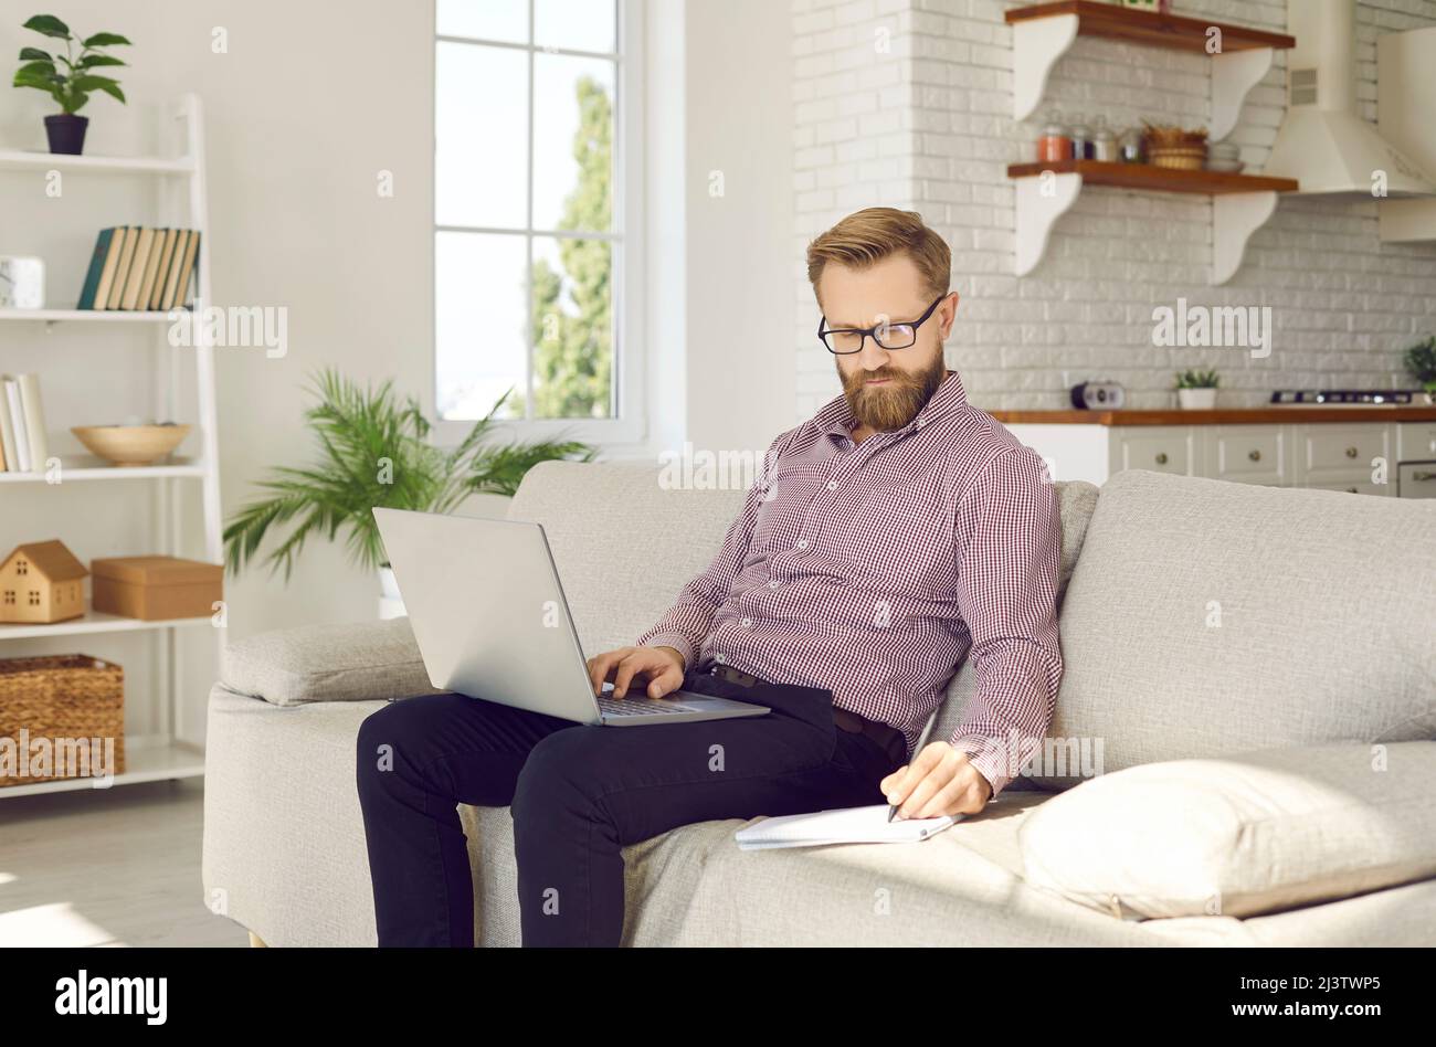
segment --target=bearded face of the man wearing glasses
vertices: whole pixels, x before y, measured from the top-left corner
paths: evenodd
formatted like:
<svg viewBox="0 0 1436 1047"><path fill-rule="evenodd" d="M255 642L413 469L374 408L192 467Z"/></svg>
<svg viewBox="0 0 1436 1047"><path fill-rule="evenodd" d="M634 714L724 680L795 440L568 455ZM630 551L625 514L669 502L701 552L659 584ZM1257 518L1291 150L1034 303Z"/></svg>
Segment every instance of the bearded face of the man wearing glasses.
<svg viewBox="0 0 1436 1047"><path fill-rule="evenodd" d="M910 323L919 319L925 297L918 266L906 254L892 254L864 270L829 263L819 277L819 300L827 330ZM856 353L834 355L847 406L859 424L879 432L900 429L932 399L946 365L942 343L952 330L956 293L918 327L918 340L906 349L883 349L872 338Z"/></svg>

